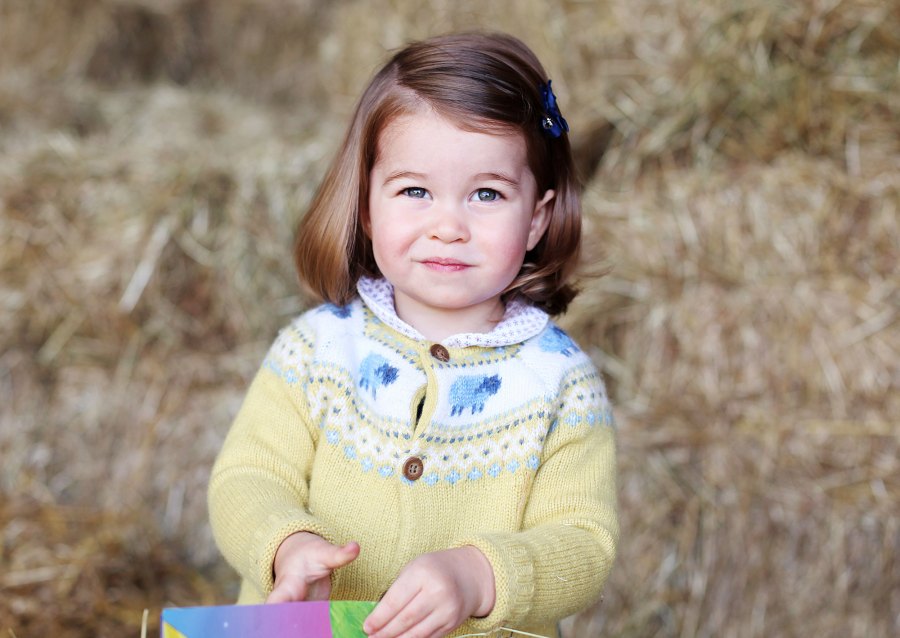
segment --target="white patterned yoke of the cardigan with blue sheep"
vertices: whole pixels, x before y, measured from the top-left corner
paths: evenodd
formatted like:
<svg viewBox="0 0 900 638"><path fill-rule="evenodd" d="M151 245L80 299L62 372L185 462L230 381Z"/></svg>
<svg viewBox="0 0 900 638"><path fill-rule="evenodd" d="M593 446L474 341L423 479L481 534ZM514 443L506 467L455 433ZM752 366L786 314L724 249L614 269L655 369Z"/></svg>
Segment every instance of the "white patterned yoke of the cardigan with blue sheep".
<svg viewBox="0 0 900 638"><path fill-rule="evenodd" d="M326 305L283 330L264 367L304 398L320 441L365 473L412 486L400 470L411 456L424 461L423 486L533 473L555 428L609 427L612 416L565 332L526 323L523 343L458 349L442 362L360 300Z"/></svg>

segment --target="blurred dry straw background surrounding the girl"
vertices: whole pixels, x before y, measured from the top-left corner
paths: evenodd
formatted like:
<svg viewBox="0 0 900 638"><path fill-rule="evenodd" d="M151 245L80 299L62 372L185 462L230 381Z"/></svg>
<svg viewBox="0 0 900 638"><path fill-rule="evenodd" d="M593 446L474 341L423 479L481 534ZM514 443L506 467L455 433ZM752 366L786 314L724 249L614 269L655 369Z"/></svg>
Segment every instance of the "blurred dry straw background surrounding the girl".
<svg viewBox="0 0 900 638"><path fill-rule="evenodd" d="M620 559L568 636L900 633L900 2L0 0L0 633L224 602L205 482L386 52L529 42ZM151 623L152 627L152 623Z"/></svg>

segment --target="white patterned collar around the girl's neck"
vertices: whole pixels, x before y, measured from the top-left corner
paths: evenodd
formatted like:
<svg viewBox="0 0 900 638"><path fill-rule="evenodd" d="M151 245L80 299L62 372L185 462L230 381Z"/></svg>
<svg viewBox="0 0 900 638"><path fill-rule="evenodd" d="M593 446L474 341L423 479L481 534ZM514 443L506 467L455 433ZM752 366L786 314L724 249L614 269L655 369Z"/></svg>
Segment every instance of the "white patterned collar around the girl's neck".
<svg viewBox="0 0 900 638"><path fill-rule="evenodd" d="M394 308L394 287L387 279L361 277L356 289L369 310L381 321L410 339L427 341L422 333L397 316ZM450 348L511 346L539 334L547 325L547 321L549 317L546 312L516 299L506 304L503 319L490 332L455 334L441 343Z"/></svg>

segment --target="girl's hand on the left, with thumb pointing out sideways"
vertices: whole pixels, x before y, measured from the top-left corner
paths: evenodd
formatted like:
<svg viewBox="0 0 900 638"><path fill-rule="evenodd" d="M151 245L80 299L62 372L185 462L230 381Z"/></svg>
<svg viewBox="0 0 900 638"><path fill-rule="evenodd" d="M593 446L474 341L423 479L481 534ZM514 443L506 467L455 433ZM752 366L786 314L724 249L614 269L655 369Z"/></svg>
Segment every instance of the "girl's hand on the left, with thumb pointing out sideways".
<svg viewBox="0 0 900 638"><path fill-rule="evenodd" d="M357 556L358 543L338 546L310 532L291 534L275 552L275 588L266 602L328 600L331 572Z"/></svg>

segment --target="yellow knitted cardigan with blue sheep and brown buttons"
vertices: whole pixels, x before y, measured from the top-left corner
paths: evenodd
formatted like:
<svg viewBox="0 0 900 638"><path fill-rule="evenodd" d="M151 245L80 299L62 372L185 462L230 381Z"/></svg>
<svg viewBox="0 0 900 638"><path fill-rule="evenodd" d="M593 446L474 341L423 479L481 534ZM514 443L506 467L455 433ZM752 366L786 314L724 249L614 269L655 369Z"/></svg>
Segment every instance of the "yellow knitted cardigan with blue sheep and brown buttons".
<svg viewBox="0 0 900 638"><path fill-rule="evenodd" d="M597 370L531 306L432 344L397 317L390 284L359 292L279 334L213 468L210 517L243 577L238 602L265 599L298 531L359 542L332 575L344 600L378 600L416 556L473 545L496 603L452 635L556 635L599 596L618 540Z"/></svg>

